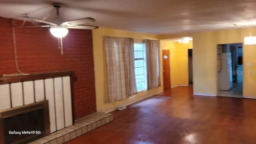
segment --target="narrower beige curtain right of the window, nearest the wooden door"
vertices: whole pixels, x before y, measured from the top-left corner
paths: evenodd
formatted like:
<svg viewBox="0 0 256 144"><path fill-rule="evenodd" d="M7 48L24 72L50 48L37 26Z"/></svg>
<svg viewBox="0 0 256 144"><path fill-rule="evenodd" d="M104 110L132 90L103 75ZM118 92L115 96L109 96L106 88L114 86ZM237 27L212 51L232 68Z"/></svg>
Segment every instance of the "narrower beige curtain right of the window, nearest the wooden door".
<svg viewBox="0 0 256 144"><path fill-rule="evenodd" d="M160 41L146 40L146 61L148 89L154 89L161 85L160 81Z"/></svg>

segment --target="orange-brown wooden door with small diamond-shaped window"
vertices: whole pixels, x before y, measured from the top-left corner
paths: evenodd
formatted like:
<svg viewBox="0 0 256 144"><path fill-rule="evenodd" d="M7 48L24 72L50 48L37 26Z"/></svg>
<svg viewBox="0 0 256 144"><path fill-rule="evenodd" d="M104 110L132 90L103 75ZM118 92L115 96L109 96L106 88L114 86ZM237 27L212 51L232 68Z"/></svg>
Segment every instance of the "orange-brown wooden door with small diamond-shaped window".
<svg viewBox="0 0 256 144"><path fill-rule="evenodd" d="M163 78L164 78L164 90L167 90L171 87L171 79L170 79L170 51L163 50L162 51L162 59L163 59Z"/></svg>

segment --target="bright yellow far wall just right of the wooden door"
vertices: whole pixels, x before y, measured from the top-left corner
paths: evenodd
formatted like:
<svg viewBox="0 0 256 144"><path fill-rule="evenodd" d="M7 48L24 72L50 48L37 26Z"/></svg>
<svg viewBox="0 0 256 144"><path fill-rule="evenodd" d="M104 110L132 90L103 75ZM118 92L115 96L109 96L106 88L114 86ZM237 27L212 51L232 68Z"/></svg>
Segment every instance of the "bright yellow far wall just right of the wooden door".
<svg viewBox="0 0 256 144"><path fill-rule="evenodd" d="M188 44L161 40L161 49L170 50L171 87L188 85L188 49L193 48L193 42Z"/></svg>

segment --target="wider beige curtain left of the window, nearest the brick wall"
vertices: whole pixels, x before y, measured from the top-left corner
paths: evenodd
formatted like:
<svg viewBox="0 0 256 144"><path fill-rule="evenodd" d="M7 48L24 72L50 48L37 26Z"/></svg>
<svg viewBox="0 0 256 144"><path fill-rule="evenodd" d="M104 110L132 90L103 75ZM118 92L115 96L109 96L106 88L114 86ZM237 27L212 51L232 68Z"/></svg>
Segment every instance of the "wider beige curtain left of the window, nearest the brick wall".
<svg viewBox="0 0 256 144"><path fill-rule="evenodd" d="M132 38L104 37L109 102L137 93L133 44Z"/></svg>

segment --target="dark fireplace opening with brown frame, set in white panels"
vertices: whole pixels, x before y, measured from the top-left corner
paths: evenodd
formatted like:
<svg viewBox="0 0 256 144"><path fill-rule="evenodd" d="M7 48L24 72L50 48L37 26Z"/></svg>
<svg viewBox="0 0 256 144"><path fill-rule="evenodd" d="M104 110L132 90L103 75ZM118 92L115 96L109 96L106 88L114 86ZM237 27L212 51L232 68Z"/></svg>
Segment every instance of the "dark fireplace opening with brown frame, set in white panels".
<svg viewBox="0 0 256 144"><path fill-rule="evenodd" d="M49 134L48 100L0 110L0 144L27 144Z"/></svg>

